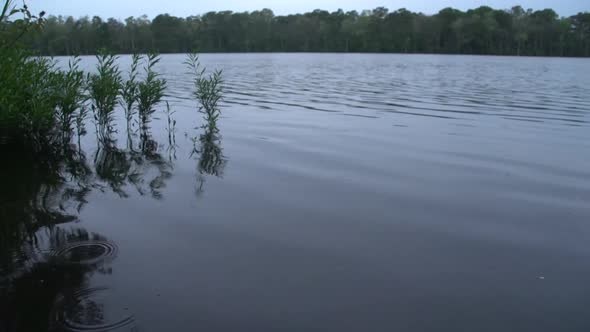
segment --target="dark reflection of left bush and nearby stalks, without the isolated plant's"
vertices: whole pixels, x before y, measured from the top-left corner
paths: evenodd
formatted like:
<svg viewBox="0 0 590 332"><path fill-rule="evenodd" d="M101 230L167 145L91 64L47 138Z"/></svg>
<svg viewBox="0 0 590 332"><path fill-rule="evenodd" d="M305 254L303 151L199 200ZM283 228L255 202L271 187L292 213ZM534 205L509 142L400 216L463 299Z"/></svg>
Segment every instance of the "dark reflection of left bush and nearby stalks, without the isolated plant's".
<svg viewBox="0 0 590 332"><path fill-rule="evenodd" d="M172 167L157 146L153 140L142 142L138 150L102 146L92 168L75 147L48 146L38 155L20 145L0 144L0 152L13 157L0 164L4 184L0 187L2 331L47 331L51 328L48 317L55 308L54 317L60 322L75 319L74 323L90 327L102 323L101 319L76 316L92 313L100 318L103 308L79 307L80 299L85 305L95 303L94 293L81 298L75 290L88 287L86 280L92 273L111 273L105 262L116 246L83 229L65 227L77 220L87 195L101 188L102 182L116 192L123 192L128 183L141 194L161 198ZM158 174L146 181L154 169ZM45 253L47 249L52 249L51 255ZM62 306L56 307L58 298ZM115 323L133 324L133 320Z"/></svg>

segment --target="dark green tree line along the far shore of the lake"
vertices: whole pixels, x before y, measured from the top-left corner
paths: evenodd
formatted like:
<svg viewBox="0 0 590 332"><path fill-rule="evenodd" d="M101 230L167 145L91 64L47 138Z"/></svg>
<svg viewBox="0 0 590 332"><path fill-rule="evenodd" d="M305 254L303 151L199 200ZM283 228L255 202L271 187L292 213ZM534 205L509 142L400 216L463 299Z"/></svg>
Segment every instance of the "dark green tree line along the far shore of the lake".
<svg viewBox="0 0 590 332"><path fill-rule="evenodd" d="M159 15L124 22L100 17L49 16L28 46L46 55L157 51L199 52L392 52L529 56L590 56L590 12L559 17L533 11L445 8L435 15L406 9L276 16L209 12L186 18Z"/></svg>

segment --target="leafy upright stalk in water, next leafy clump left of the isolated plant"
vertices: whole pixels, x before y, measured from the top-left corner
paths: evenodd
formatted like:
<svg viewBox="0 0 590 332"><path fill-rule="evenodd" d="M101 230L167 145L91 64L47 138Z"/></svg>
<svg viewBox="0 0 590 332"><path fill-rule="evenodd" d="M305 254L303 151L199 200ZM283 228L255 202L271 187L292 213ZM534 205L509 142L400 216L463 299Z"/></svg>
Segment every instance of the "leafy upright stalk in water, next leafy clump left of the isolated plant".
<svg viewBox="0 0 590 332"><path fill-rule="evenodd" d="M160 62L157 54L148 54L145 70L145 79L137 86L139 119L142 130L145 131L151 121L151 115L156 111L155 106L164 98L167 82L160 78L154 67Z"/></svg>

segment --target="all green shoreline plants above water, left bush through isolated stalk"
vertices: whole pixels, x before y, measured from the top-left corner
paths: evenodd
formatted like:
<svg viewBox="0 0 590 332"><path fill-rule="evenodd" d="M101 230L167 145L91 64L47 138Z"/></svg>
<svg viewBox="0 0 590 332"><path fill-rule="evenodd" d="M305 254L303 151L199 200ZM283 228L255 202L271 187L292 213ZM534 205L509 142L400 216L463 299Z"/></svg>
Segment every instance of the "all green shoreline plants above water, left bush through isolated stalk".
<svg viewBox="0 0 590 332"><path fill-rule="evenodd" d="M0 147L16 145L39 154L65 149L74 138L87 134L94 124L97 142L113 145L117 132L115 118L123 113L128 134L148 137L156 111L164 112L167 82L156 71L160 56L154 52L135 53L130 68L119 67L119 57L111 51L97 51L94 73L80 69L78 57L67 68L58 68L55 60L36 56L23 43L45 31L45 13L31 13L26 4L5 0L0 12ZM198 55L187 54L184 63L194 77L194 97L205 114L203 125L216 133L222 98L222 72L208 76ZM174 111L167 104L169 125ZM79 145L79 144L78 144Z"/></svg>

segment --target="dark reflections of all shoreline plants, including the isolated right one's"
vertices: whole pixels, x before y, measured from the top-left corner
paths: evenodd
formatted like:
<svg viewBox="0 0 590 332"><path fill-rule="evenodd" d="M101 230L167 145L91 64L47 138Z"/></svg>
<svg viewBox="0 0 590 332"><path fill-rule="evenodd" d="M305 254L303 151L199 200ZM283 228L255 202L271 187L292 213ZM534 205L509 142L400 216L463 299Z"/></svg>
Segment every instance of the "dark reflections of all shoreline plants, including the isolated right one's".
<svg viewBox="0 0 590 332"><path fill-rule="evenodd" d="M163 198L174 174L175 133L169 132L164 157L147 128L139 135L128 129L124 148L97 137L92 160L80 143L37 155L11 142L0 145L11 156L0 165L0 331L137 330L114 290L89 283L95 274L112 273L117 244L74 226L93 192ZM227 159L218 130L205 129L197 141L192 156L202 184L204 174L221 176Z"/></svg>

